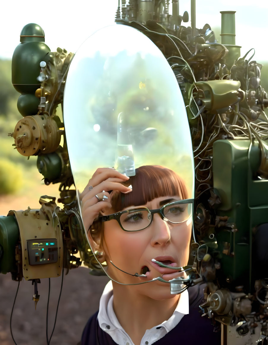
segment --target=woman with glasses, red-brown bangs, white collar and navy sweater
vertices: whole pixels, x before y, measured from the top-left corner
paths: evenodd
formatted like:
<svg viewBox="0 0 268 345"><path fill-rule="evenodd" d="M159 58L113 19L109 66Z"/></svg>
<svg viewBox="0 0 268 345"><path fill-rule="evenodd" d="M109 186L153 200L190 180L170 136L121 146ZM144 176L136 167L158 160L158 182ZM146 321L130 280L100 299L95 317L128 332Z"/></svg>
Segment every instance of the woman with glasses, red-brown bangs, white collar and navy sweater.
<svg viewBox="0 0 268 345"><path fill-rule="evenodd" d="M159 280L119 284L157 277L168 281L183 274L152 261L187 265L192 200L186 200L181 178L160 166L140 167L131 178L97 169L81 198L91 247L115 280L106 285L82 345L219 344L220 332L213 333L209 319L198 313L199 286L172 295L170 284Z"/></svg>

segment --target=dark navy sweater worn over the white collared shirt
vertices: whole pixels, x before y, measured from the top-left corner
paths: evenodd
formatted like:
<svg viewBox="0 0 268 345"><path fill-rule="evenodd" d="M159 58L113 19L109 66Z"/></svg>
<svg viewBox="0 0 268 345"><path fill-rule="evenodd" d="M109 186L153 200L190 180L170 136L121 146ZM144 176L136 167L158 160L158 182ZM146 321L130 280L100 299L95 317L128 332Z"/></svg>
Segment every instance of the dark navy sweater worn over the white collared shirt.
<svg viewBox="0 0 268 345"><path fill-rule="evenodd" d="M155 345L220 345L220 331L214 332L214 326L206 316L201 317L199 304L203 300L204 285L196 285L188 289L189 314L184 315L181 321ZM87 322L81 339L81 345L116 345L111 336L104 332L97 321L96 312ZM219 327L218 327L219 328ZM220 329L220 328L219 328ZM151 345L151 344L149 344Z"/></svg>

